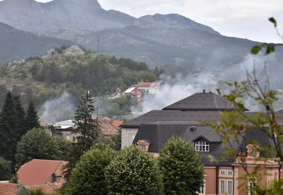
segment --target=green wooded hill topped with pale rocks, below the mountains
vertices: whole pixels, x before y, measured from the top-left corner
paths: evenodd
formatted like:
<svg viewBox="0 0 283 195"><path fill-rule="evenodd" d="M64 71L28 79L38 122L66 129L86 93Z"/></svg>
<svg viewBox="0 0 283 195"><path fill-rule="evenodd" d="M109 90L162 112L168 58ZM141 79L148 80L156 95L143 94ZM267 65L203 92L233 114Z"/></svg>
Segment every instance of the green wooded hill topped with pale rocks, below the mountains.
<svg viewBox="0 0 283 195"><path fill-rule="evenodd" d="M64 101L58 100L54 107L61 117L59 119L64 120L64 117L71 118L73 106L87 89L92 97L100 98L98 102L108 113L106 115L127 114L131 112L131 106L137 104L134 100L125 97L109 100L105 93L115 93L117 88L123 92L139 81L157 81L158 76L164 72L158 68L150 70L145 62L92 53L81 47L77 49L84 53L82 55L64 54L68 49L70 47L57 47L44 53L42 57L0 65L0 107L8 90L22 94L24 105L31 99L34 100L38 109L43 109L47 100L60 98L68 93L61 98ZM40 114L44 114L44 110Z"/></svg>

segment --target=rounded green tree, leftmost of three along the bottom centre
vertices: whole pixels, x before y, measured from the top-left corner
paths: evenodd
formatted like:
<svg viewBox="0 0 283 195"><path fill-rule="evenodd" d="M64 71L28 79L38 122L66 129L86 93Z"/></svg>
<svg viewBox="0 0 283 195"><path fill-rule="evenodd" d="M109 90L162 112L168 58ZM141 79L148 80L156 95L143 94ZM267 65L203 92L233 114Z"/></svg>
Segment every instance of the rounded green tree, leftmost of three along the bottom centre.
<svg viewBox="0 0 283 195"><path fill-rule="evenodd" d="M64 194L107 194L105 168L114 156L114 150L98 143L85 152L64 186Z"/></svg>

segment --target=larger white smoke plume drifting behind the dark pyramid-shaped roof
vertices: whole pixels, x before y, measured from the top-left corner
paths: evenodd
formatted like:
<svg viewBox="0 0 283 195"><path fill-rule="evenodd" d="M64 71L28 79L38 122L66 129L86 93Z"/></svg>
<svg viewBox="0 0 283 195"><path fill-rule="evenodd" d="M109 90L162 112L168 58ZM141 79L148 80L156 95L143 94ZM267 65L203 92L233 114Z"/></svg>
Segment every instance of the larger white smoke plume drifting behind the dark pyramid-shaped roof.
<svg viewBox="0 0 283 195"><path fill-rule="evenodd" d="M207 67L204 70L194 69L191 74L186 77L177 75L176 78L170 78L166 75L161 75L158 82L161 87L159 94L155 96L145 95L143 100L142 113L149 112L151 110L160 110L172 103L175 103L185 97L188 97L197 92L212 91L217 93L216 89L219 88L223 94L228 94L231 88L225 84L226 81L244 81L247 79L246 71L249 73L253 70L253 61L256 63L257 77L262 84L266 80L264 72L264 62L267 62L267 71L270 75L270 86L273 89L283 89L282 76L279 66L279 62L275 60L275 53L269 55L252 55L247 54L240 64L226 66L225 68ZM278 67L278 69L277 69ZM279 91L282 96L282 90ZM275 105L275 110L282 109L283 97ZM250 109L251 112L263 111L262 106L255 103L251 98L245 97L242 99L245 106Z"/></svg>

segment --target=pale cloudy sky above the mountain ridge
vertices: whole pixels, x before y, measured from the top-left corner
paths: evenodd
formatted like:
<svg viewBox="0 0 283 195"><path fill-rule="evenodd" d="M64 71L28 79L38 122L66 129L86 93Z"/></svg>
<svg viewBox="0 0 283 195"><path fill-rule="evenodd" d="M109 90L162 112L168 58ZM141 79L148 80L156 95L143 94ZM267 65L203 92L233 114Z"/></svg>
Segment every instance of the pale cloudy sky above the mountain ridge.
<svg viewBox="0 0 283 195"><path fill-rule="evenodd" d="M45 0L37 0L45 2ZM225 36L281 43L269 17L283 33L283 0L98 0L102 8L134 17L176 13L208 25Z"/></svg>

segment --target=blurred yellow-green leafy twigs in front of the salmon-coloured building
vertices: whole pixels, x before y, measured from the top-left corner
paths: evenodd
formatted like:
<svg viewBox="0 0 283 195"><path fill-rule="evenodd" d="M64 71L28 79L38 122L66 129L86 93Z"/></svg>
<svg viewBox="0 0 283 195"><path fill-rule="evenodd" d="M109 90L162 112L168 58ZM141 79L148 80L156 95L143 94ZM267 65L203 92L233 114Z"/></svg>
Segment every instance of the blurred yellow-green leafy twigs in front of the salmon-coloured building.
<svg viewBox="0 0 283 195"><path fill-rule="evenodd" d="M225 149L225 157L223 160L234 158L234 162L238 162L243 170L246 172L245 175L239 177L239 180L254 182L253 189L247 189L247 185L239 185L239 188L247 192L253 190L256 194L278 194L277 192L281 190L282 192L282 180L272 181L271 184L260 185L260 181L263 181L263 176L268 175L265 171L266 163L273 162L273 164L278 164L282 166L283 159L283 127L278 123L278 120L282 120L276 116L273 103L278 100L277 91L271 90L269 86L269 75L266 71L266 80L264 82L264 87L262 87L257 78L255 63L253 64L252 74L247 72L247 80L241 82L228 82L227 85L233 87L234 89L230 91L228 95L223 95L227 100L232 102L232 105L237 108L234 112L224 111L221 113L219 120L214 120L213 125L207 124L213 127L219 135L222 137L223 142L227 143L228 147ZM220 90L218 90L221 95ZM259 113L249 113L245 112L245 107L243 103L238 102L239 98L251 97L255 102L258 102L265 108L265 112ZM269 144L259 144L258 140L250 140L247 136L252 133L258 133L261 136L267 136ZM260 139L260 137L258 137ZM232 148L233 142L237 143L239 149ZM244 144L243 144L244 143ZM258 153L258 158L254 159L253 168L250 168L251 162L247 162L247 149L245 146L251 145L255 148ZM244 146L244 147L243 147ZM259 155L260 153L260 155ZM221 164L221 162L218 162ZM257 182L255 182L257 181ZM251 193L253 194L253 193Z"/></svg>

